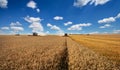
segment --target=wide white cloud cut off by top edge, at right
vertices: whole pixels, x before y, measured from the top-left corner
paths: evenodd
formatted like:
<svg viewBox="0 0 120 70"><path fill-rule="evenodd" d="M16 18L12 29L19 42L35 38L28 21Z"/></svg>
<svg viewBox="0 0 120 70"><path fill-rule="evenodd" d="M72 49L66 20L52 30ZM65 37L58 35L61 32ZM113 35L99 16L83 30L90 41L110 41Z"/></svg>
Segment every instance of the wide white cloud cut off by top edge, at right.
<svg viewBox="0 0 120 70"><path fill-rule="evenodd" d="M88 4L89 5L94 4L95 6L97 6L97 5L103 5L109 1L110 0L75 0L73 6L82 7Z"/></svg>

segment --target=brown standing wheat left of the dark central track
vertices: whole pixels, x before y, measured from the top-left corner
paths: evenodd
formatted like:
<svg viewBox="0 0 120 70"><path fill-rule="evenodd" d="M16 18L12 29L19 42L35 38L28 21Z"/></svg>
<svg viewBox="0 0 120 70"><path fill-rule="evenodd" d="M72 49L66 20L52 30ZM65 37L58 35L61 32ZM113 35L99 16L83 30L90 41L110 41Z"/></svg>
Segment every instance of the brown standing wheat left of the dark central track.
<svg viewBox="0 0 120 70"><path fill-rule="evenodd" d="M60 70L63 37L0 36L0 70Z"/></svg>

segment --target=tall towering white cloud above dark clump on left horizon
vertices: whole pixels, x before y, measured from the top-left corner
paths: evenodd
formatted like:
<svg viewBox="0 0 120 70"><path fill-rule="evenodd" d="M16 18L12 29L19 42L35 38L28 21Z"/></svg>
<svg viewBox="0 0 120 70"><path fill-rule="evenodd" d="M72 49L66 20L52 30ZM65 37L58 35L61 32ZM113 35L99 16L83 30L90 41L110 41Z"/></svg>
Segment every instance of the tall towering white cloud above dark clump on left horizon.
<svg viewBox="0 0 120 70"><path fill-rule="evenodd" d="M29 28L32 29L32 32L42 32L44 30L43 26L41 24L41 21L42 21L41 18L27 16L27 17L24 18L24 20L31 23L29 25Z"/></svg>

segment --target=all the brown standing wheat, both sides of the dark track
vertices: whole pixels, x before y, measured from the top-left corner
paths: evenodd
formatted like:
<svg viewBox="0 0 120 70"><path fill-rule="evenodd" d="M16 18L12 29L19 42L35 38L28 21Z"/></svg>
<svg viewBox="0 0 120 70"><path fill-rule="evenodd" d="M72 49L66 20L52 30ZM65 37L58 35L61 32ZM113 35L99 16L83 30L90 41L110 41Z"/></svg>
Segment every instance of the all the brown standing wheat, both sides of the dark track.
<svg viewBox="0 0 120 70"><path fill-rule="evenodd" d="M0 36L0 70L119 69L114 61L69 37Z"/></svg>

